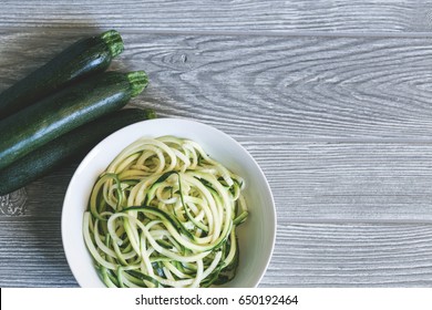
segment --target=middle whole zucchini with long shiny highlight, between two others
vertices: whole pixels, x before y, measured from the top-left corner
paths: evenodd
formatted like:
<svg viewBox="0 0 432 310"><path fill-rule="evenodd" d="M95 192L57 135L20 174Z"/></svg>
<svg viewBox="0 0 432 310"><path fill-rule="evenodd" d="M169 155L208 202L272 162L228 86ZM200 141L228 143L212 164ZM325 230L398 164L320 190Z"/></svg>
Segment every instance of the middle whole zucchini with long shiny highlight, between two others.
<svg viewBox="0 0 432 310"><path fill-rule="evenodd" d="M104 72L0 121L0 169L43 144L120 110L147 85L145 72Z"/></svg>

